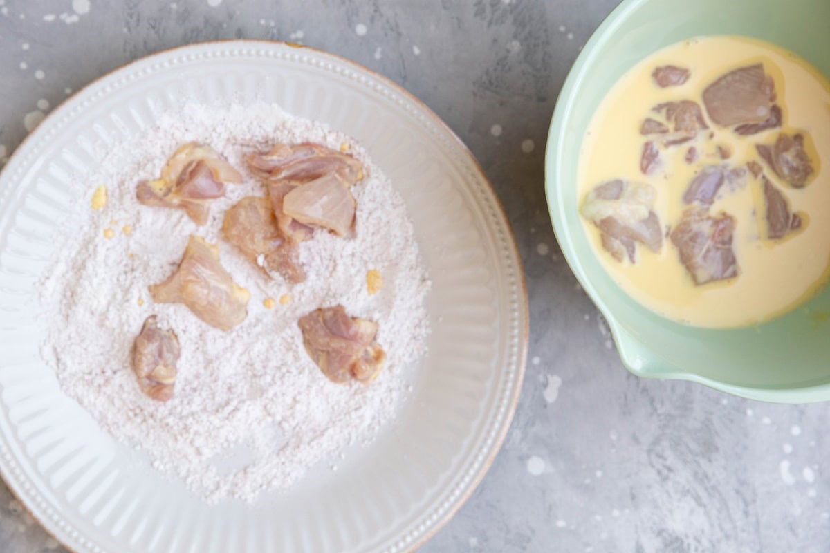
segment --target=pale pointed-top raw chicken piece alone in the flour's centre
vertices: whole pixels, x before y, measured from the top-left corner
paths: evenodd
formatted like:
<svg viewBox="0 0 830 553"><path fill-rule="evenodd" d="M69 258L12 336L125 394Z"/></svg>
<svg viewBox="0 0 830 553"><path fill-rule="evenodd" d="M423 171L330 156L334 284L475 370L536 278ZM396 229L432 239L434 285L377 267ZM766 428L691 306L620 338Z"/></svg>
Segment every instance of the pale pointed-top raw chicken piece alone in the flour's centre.
<svg viewBox="0 0 830 553"><path fill-rule="evenodd" d="M159 303L183 303L205 323L230 330L247 317L251 294L233 282L219 263L219 249L191 235L178 269L148 287Z"/></svg>

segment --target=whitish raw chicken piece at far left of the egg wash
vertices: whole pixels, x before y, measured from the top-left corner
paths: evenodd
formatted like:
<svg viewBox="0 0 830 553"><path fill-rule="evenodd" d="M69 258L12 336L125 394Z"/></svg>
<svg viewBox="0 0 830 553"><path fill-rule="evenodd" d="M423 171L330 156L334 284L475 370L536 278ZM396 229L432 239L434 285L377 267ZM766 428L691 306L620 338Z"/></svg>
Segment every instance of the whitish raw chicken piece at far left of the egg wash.
<svg viewBox="0 0 830 553"><path fill-rule="evenodd" d="M582 216L593 221L602 233L603 247L615 260L636 262L636 243L659 252L662 226L654 206L654 188L621 179L594 187L583 201Z"/></svg>

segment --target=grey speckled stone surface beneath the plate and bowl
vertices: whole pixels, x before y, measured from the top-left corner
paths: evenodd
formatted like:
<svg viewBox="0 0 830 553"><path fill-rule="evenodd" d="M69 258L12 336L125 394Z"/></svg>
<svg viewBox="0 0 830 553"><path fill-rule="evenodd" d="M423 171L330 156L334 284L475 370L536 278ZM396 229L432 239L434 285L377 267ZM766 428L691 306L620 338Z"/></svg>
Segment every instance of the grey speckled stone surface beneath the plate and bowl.
<svg viewBox="0 0 830 553"><path fill-rule="evenodd" d="M510 434L422 551L830 551L828 405L629 375L559 254L544 207L545 136L580 45L615 3L0 0L0 158L37 111L170 46L267 38L358 61L422 99L480 160L530 293ZM62 550L0 483L0 552L31 551Z"/></svg>

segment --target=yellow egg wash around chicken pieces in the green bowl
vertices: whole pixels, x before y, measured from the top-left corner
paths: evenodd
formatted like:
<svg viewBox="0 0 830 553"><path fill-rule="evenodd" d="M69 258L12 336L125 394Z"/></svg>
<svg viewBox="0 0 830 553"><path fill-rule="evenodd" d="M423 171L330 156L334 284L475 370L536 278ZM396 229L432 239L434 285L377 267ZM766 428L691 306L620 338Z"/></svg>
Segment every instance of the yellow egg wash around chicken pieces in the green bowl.
<svg viewBox="0 0 830 553"><path fill-rule="evenodd" d="M714 124L703 107L703 90L730 70L759 62L774 80L776 103L783 109L781 127L740 136ZM683 85L660 88L652 80L652 70L662 65L685 67L691 75ZM730 158L722 162L730 167L747 167L750 160L764 165L755 145L772 144L779 133L808 137L804 148L814 169L808 186L788 187L764 165L764 174L784 192L793 213L801 217L801 227L782 239L766 239L763 189L756 179L749 178L745 186L735 190L724 185L710 206L711 214L725 211L735 218L737 277L696 285L667 235L659 253L638 244L636 263L627 259L618 262L603 249L598 228L582 218L596 255L633 298L683 323L739 327L789 311L813 295L828 277L830 83L806 61L764 41L710 36L668 46L623 75L594 114L580 151L580 205L600 183L618 178L642 182L655 189L652 210L663 229L675 228L686 208L682 196L701 164L686 163L688 147L680 145L666 148L660 170L650 176L643 174L640 162L647 138L640 129L655 105L682 99L700 104L709 125L705 131L709 151L701 155L714 159L716 146L730 148Z"/></svg>

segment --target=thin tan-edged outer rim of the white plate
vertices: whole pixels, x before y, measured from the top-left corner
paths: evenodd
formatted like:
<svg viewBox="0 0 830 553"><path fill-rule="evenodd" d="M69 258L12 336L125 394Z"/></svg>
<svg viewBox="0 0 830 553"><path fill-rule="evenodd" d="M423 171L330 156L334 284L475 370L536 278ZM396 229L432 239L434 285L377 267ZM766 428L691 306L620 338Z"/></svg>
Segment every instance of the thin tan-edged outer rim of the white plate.
<svg viewBox="0 0 830 553"><path fill-rule="evenodd" d="M510 220L507 218L507 213L505 212L505 207L501 204L501 201L499 199L499 195L496 194L496 189L493 188L493 184L490 182L490 179L487 177L486 172L484 172L484 169L481 167L481 163L478 162L478 159L476 159L476 156L474 156L472 154L472 152L470 151L470 148L466 147L466 144L461 140L461 138L458 137L458 135L455 133L455 131L453 131L449 127L449 125L444 123L444 121L440 117L438 117L437 114L435 114L435 112L433 112L432 109L429 108L429 106L427 106L427 104L424 104L420 99L417 98L417 96L413 95L411 92L409 92L408 90L403 88L403 86L398 85L398 83L394 82L393 80L388 79L388 77L380 75L378 72L376 72L374 70L370 70L368 67L365 67L364 65L360 65L356 61L349 60L349 58L346 58L344 56L339 56L338 54L334 54L330 51L325 51L325 50L322 50L320 48L315 48L314 46L305 46L305 45L301 45L301 44L295 44L294 42L270 41L270 40L266 40L266 39L257 39L257 38L233 38L233 39L222 39L222 40L216 40L216 41L200 41L200 42L193 42L193 43L190 43L190 44L183 44L183 45L179 45L179 46L172 46L170 48L165 48L164 50L155 51L152 54L149 54L147 56L142 56L142 57L140 57L136 60L128 61L127 63L125 63L123 65L119 65L118 67L115 67L115 69L111 69L111 70L107 71L104 75L100 75L98 77L95 77L95 79L90 80L89 83L84 85L83 88L81 88L81 90L76 90L71 95L67 96L66 99L63 99L61 104L58 104L56 109L53 109L49 114L46 115L46 118L43 119L43 122L45 122L47 119L51 118L52 115L54 115L56 113L56 111L61 108L62 105L66 104L71 99L75 98L76 95L80 95L81 92L88 89L90 86L95 85L95 83L97 83L99 80L105 79L106 77L112 75L116 71L119 71L119 70L125 69L126 67L129 67L129 65L139 63L140 61L147 61L147 60L149 60L149 59L151 59L155 56L162 56L164 54L167 54L168 52L180 50L182 48L188 48L190 46L198 46L198 45L202 45L202 44L221 44L221 43L226 43L226 42L262 42L262 43L266 43L266 44L269 44L269 45L284 44L286 46L290 46L291 48L305 48L305 49L308 49L310 51L320 52L321 54L324 54L325 56L335 57L339 61L343 61L344 63L346 63L348 65L352 65L354 67L357 67L359 70L366 71L370 75L374 76L376 79L383 81L383 83L385 85L387 85L389 88L397 90L399 93L401 93L401 94L407 96L409 99L413 100L413 102L415 104L421 106L421 108L424 109L426 114L430 118L432 118L433 123L437 124L439 127L441 127L442 129L444 129L448 133L450 133L452 138L455 139L455 141L458 143L458 145L461 147L461 149L472 160L473 164L476 167L476 171L479 172L479 174L481 175L481 178L483 179L484 182L486 182L487 186L490 187L490 191L492 192L493 196L496 198L496 207L498 207L498 214L501 217L501 221L505 224L505 227L507 228L508 235L510 235L511 244L513 245L513 252L512 253L513 253L513 255L515 255L516 264L519 267L519 273L520 273L519 274L519 276L520 276L519 284L520 284L520 289L521 289L521 298L520 298L521 305L520 305L520 307L524 308L523 309L524 316L522 318L523 320L521 321L521 327L520 327L521 343L520 343L520 352L519 352L519 360L518 360L519 362L516 366L518 378L517 378L517 384L515 386L515 391L513 392L513 398L510 400L510 406L509 406L509 410L508 410L509 413L506 416L504 427L501 429L500 434L496 437L495 443L496 443L497 447L493 449L492 453L490 454L490 457L487 458L486 462L482 465L482 470L480 470L479 473L476 475L476 479L471 483L471 485L466 490L466 492L461 496L461 498L457 502L457 505L452 509L452 511L447 512L447 515L445 517L443 517L442 520L439 521L432 528L432 531L430 531L425 536L422 536L421 541L418 541L417 545L413 546L413 548L410 550L410 551L416 551L418 548L420 548L425 543L427 543L427 541L429 541L430 538L432 538L432 536L435 536L439 530L441 530L444 526L446 526L447 522L452 520L452 517L455 517L456 513L467 502L467 500L472 495L472 492L476 491L476 488L478 488L478 485L481 483L481 480L484 479L484 475L487 473L487 471L490 470L490 468L493 464L493 461L496 459L496 455L499 454L499 451L501 450L501 444L503 444L504 441L505 441L505 436L507 435L507 431L510 429L510 424L512 424L512 422L513 422L513 415L515 415L516 405L518 405L518 403L519 403L519 396L520 396L520 392L521 392L521 389L522 389L522 382L525 379L525 367L527 366L528 340L530 338L530 306L529 306L529 303L528 303L528 296L527 296L527 279L525 278L525 268L524 268L524 264L522 264L521 256L519 255L519 249L516 245L516 239L515 239L515 233L513 232L513 226L510 225ZM43 122L41 122L41 124L43 124ZM38 125L38 126L40 126L40 125ZM37 129L35 129L35 130L37 130ZM9 166L12 159L17 154L17 152L21 149L21 147L25 143L27 143L27 141L30 138L32 138L32 134L35 134L35 131L32 131L31 133L28 133L26 135L26 137L24 137L22 139L22 141L17 145L17 148L14 149L14 152L12 153L12 155L7 159L7 162L3 165L2 169L0 169L0 177L2 177L2 173L4 171L6 171L6 168ZM72 553L77 553L76 550L72 549L70 546L67 546L66 543L61 541L61 539L58 536L55 536L54 534L51 533L51 531L49 531L46 528L46 526L43 524L43 521L41 521L41 519L38 518L35 515L34 512L32 512L32 510L28 507L26 502L24 502L22 500L22 498L17 495L17 492L14 490L14 488L12 488L12 486L9 485L6 482L6 479L3 477L2 472L0 472L0 478L2 478L3 482L7 484L7 488L9 489L10 492L12 492L12 496L14 496L15 499L17 499L17 502L20 503L22 505L22 507L26 510L26 512L33 519L35 519L37 521L37 523L41 526L41 528L44 531L46 531L47 534L52 536L56 541L59 541L61 543L61 546L65 547L67 550L72 551Z"/></svg>

